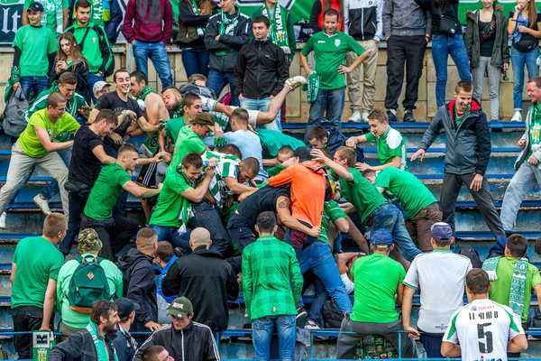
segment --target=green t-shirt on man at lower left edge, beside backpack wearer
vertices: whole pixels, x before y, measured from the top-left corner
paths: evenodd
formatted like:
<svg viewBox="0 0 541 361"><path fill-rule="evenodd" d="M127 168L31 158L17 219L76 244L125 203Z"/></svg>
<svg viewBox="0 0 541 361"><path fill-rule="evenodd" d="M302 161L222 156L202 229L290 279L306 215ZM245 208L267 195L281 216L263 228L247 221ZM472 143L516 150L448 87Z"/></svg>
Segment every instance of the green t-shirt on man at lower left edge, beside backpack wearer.
<svg viewBox="0 0 541 361"><path fill-rule="evenodd" d="M41 236L23 238L17 244L13 263L16 264L11 307L43 308L49 280L56 281L64 256L56 245Z"/></svg>

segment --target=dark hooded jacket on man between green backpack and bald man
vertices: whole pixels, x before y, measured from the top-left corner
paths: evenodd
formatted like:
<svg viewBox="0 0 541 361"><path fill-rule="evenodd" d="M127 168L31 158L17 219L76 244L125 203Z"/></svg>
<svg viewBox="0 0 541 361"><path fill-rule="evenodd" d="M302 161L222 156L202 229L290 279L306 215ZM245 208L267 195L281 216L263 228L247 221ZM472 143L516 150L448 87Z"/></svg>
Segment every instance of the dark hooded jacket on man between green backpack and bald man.
<svg viewBox="0 0 541 361"><path fill-rule="evenodd" d="M141 310L135 311L135 321L130 332L148 331L144 326L150 321L158 321L157 287L154 282L152 257L132 248L118 259L122 271L124 297L139 303Z"/></svg>

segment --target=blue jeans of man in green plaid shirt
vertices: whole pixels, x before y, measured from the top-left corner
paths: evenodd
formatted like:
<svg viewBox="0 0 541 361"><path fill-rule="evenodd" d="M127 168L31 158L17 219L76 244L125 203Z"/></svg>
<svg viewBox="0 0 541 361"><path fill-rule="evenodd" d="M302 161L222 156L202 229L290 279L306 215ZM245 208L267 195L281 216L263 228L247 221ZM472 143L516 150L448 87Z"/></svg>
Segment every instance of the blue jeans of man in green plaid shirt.
<svg viewBox="0 0 541 361"><path fill-rule="evenodd" d="M293 361L295 359L295 342L297 340L295 315L262 317L261 319L252 320L252 341L255 359L257 361L271 359L271 338L274 325L278 330L280 360Z"/></svg>

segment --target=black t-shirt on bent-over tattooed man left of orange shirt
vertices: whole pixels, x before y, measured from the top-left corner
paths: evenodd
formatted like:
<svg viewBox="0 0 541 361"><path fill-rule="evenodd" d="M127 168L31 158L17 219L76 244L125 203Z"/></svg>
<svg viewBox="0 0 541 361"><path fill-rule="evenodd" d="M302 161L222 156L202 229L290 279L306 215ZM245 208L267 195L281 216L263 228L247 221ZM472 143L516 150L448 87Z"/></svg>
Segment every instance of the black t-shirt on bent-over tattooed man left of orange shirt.
<svg viewBox="0 0 541 361"><path fill-rule="evenodd" d="M289 198L289 188L263 187L240 202L237 212L246 218L251 225L255 225L261 212L270 210L276 213L276 200L280 196Z"/></svg>

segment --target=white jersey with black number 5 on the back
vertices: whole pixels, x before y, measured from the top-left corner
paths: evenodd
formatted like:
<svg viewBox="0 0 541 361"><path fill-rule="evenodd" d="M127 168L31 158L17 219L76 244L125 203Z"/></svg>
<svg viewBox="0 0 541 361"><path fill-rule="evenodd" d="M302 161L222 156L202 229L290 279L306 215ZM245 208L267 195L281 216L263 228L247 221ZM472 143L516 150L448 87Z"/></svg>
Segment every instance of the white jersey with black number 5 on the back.
<svg viewBox="0 0 541 361"><path fill-rule="evenodd" d="M483 299L454 312L443 341L460 345L463 361L507 361L508 341L523 333L509 307Z"/></svg>

